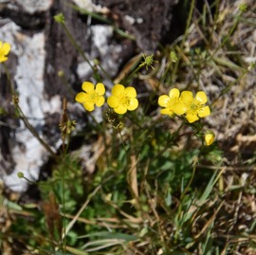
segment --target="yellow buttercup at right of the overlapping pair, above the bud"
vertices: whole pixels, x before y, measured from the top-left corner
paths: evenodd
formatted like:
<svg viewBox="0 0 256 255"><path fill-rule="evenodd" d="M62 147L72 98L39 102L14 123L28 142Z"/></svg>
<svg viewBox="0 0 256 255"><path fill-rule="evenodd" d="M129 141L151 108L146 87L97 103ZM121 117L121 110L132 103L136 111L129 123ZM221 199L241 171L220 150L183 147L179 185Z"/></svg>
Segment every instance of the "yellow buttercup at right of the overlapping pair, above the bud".
<svg viewBox="0 0 256 255"><path fill-rule="evenodd" d="M205 106L208 100L205 92L199 91L195 95L195 98L193 98L191 91L183 91L180 95L180 100L187 107L186 118L190 123L199 118L210 116L210 107Z"/></svg>

